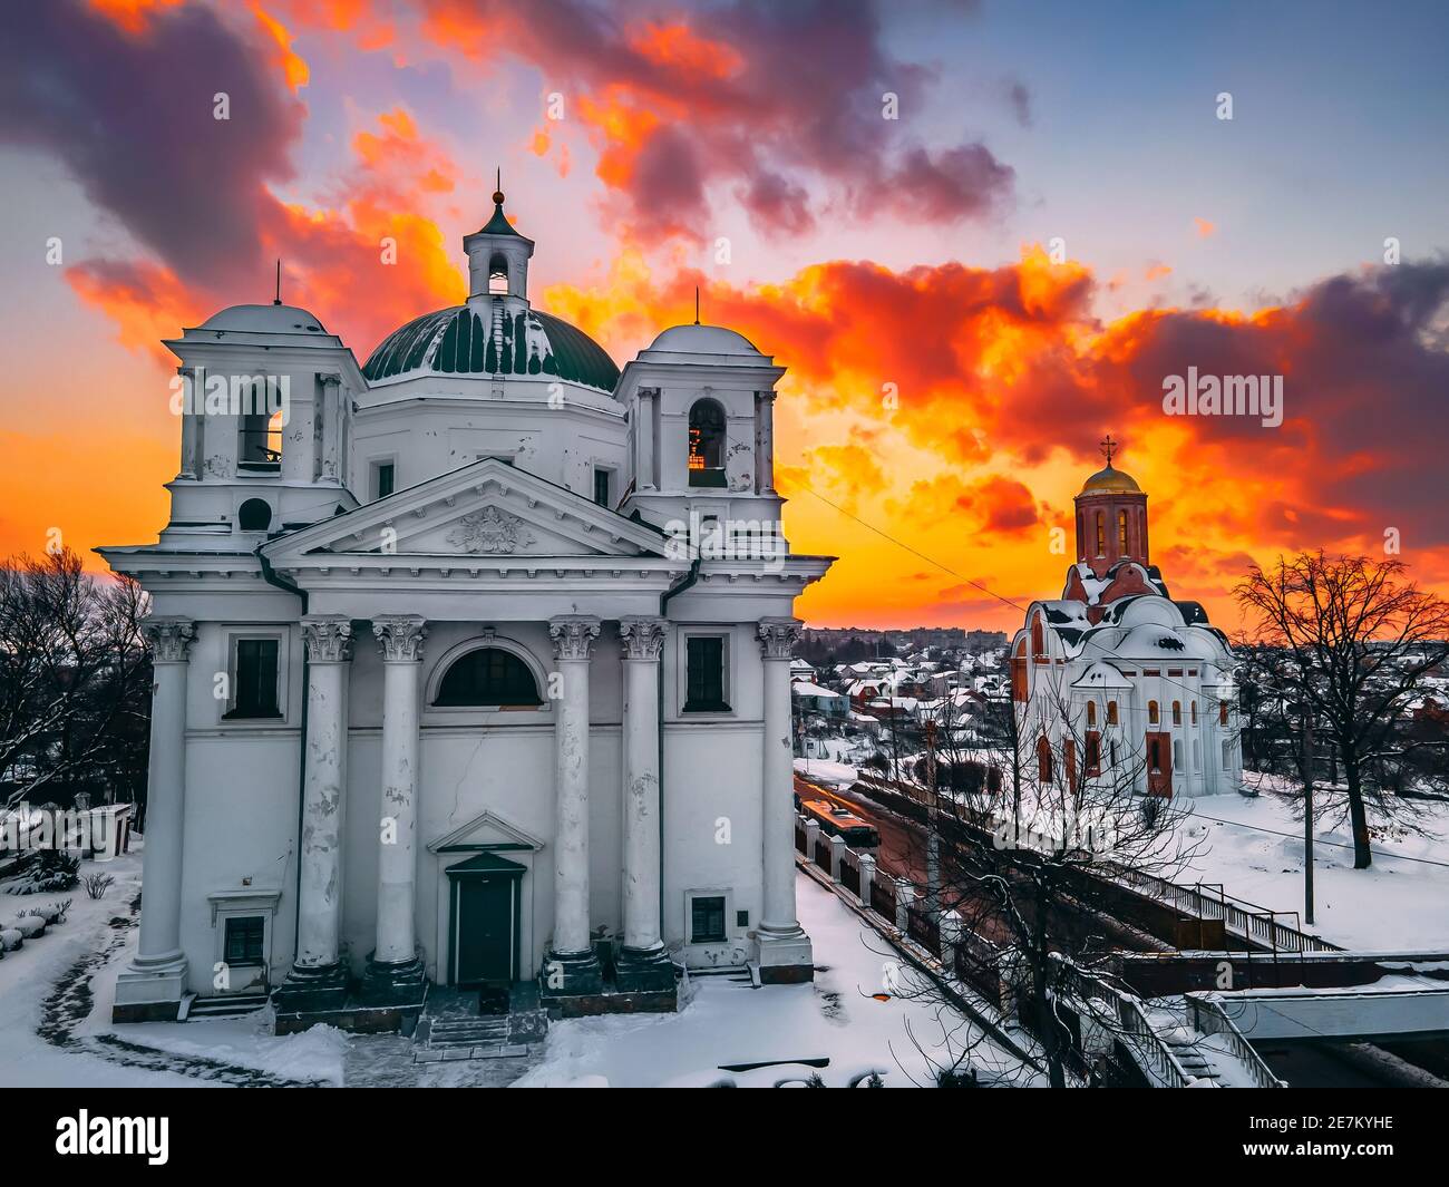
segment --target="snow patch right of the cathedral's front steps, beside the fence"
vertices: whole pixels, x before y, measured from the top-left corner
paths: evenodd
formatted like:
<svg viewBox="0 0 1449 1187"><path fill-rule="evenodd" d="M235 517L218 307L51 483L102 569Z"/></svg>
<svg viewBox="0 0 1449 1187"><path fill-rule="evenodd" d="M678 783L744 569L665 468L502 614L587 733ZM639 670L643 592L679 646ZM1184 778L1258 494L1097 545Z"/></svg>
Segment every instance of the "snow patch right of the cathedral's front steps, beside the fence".
<svg viewBox="0 0 1449 1187"><path fill-rule="evenodd" d="M878 1071L887 1087L926 1083L927 1049L942 1044L942 1022L923 1003L871 994L894 964L885 942L835 894L806 875L797 880L800 922L814 944L816 980L804 986L751 988L724 977L693 981L693 999L677 1015L619 1015L549 1026L543 1061L516 1087L769 1087L804 1080L803 1064L730 1073L722 1065L781 1059L827 1059L827 1087L845 1087ZM965 1039L964 1020L945 1017ZM961 1028L961 1029L958 1029ZM940 1051L933 1052L939 1061ZM1014 1071L1016 1061L982 1046L984 1071Z"/></svg>

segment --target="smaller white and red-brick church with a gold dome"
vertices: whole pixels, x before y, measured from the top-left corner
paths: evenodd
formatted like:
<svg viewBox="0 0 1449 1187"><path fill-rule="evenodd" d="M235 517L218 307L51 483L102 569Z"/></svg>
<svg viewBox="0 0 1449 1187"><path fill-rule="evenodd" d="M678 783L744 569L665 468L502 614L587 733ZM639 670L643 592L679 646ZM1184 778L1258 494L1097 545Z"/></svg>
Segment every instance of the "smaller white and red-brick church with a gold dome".
<svg viewBox="0 0 1449 1187"><path fill-rule="evenodd" d="M1227 636L1175 601L1148 552L1148 496L1111 464L1075 497L1077 562L1062 596L1033 601L1011 641L1011 699L1037 777L1140 794L1242 784ZM1080 754L1078 754L1080 751ZM1077 764L1082 762L1078 772Z"/></svg>

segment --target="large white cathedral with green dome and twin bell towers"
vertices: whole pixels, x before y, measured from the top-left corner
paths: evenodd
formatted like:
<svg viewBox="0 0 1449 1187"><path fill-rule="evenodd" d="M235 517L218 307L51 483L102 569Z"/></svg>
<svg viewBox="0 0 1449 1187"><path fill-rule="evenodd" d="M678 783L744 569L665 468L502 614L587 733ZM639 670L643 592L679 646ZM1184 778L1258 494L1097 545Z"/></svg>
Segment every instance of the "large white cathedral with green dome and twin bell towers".
<svg viewBox="0 0 1449 1187"><path fill-rule="evenodd" d="M155 658L117 1020L274 993L278 1029L385 1029L429 983L581 1013L668 1009L675 965L813 974L790 659L832 558L780 529L784 368L696 323L620 372L530 306L493 197L467 304L362 367L280 301L165 343L171 520L100 549Z"/></svg>

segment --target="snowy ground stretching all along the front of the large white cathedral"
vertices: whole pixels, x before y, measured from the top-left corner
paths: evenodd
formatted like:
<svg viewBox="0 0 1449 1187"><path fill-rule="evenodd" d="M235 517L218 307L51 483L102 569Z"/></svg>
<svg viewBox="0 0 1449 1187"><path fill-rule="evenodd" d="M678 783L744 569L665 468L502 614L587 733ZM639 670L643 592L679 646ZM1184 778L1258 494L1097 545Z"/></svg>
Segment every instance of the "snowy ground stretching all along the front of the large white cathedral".
<svg viewBox="0 0 1449 1187"><path fill-rule="evenodd" d="M529 1059L414 1065L409 1039L343 1035L313 1028L277 1038L267 1015L185 1023L114 1026L116 975L135 952L141 858L104 867L116 884L101 900L65 894L0 894L0 920L22 907L71 899L68 920L0 961L0 1086L222 1087L296 1084L390 1086L706 1086L798 1081L817 1068L798 1062L745 1073L722 1064L813 1059L827 1086L878 1071L887 1086L927 1078L916 1039L940 1061L942 1022L924 1003L885 1001L894 954L835 894L800 875L800 919L814 941L813 984L751 988L727 977L697 978L677 1015L630 1015L555 1023ZM910 986L914 974L898 974ZM977 1032L945 1016L956 1049ZM981 1044L972 1062L985 1073L1017 1070ZM522 1077L522 1078L519 1078Z"/></svg>

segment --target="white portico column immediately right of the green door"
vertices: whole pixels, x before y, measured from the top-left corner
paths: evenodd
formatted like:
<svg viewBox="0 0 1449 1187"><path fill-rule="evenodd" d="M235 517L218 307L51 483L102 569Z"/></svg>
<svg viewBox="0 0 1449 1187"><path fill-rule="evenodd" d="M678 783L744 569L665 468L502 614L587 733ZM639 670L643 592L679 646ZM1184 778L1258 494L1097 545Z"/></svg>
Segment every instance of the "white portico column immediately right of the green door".
<svg viewBox="0 0 1449 1187"><path fill-rule="evenodd" d="M548 629L559 697L554 704L554 948L545 987L597 993L598 965L588 933L588 662L598 619L561 615Z"/></svg>

